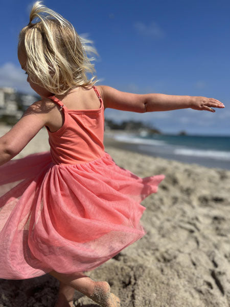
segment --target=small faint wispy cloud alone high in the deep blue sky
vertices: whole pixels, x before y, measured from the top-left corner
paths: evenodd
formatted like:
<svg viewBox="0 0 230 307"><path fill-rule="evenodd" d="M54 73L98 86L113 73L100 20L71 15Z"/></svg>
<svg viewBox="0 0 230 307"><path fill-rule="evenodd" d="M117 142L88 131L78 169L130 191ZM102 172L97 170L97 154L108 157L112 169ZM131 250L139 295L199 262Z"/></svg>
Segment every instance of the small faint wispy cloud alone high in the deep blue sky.
<svg viewBox="0 0 230 307"><path fill-rule="evenodd" d="M140 21L134 24L134 28L137 33L143 36L153 37L153 38L163 38L165 37L165 32L160 28L154 21L151 24L145 25Z"/></svg>

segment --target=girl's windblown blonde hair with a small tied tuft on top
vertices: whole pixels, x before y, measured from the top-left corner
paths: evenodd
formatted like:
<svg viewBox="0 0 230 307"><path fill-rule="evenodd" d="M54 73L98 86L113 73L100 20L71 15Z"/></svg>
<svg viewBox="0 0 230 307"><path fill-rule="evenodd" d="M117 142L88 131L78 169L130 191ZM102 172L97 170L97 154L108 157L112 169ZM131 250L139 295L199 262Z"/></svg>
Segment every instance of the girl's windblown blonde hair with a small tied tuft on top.
<svg viewBox="0 0 230 307"><path fill-rule="evenodd" d="M32 23L35 17L40 21ZM77 86L95 84L94 58L86 55L97 54L91 43L69 21L37 1L28 26L20 31L18 49L26 52L26 71L34 83L53 94L64 94Z"/></svg>

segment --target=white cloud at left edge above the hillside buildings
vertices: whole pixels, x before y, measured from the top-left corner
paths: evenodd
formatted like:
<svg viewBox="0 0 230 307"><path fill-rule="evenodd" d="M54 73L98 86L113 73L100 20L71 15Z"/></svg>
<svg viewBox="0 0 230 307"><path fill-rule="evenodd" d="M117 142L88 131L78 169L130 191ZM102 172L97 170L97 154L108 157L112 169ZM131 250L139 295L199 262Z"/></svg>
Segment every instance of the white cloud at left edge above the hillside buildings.
<svg viewBox="0 0 230 307"><path fill-rule="evenodd" d="M14 87L17 91L25 93L35 93L22 69L11 62L0 67L0 86Z"/></svg>

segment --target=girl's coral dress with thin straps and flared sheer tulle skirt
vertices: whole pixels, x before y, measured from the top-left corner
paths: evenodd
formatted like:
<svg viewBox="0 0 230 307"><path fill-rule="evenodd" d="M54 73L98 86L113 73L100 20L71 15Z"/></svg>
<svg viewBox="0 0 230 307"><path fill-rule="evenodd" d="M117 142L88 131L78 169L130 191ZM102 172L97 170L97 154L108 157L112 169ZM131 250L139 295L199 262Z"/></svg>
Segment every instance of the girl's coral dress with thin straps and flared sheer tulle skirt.
<svg viewBox="0 0 230 307"><path fill-rule="evenodd" d="M0 166L0 278L92 270L140 239L140 203L164 175L139 178L104 151L104 106L69 110L51 150Z"/></svg>

